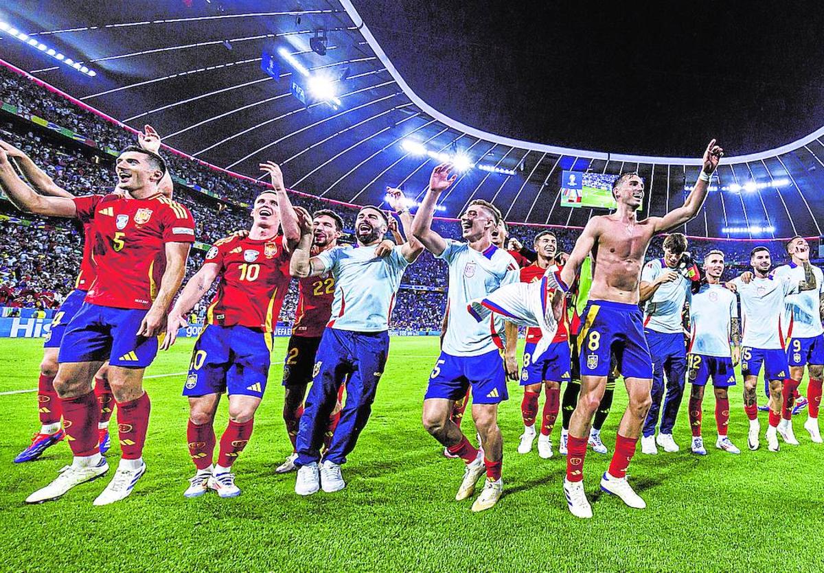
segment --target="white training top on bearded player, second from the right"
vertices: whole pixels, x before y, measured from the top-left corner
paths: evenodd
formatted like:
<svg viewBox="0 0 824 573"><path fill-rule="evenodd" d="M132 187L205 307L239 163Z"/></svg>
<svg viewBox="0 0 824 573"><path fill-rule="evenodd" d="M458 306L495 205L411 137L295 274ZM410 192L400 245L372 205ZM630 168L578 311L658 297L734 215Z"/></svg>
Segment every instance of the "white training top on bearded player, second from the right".
<svg viewBox="0 0 824 573"><path fill-rule="evenodd" d="M754 277L746 285L741 277L733 279L741 297L742 341L751 348L784 348L781 324L784 297L798 292L798 282L787 277Z"/></svg>

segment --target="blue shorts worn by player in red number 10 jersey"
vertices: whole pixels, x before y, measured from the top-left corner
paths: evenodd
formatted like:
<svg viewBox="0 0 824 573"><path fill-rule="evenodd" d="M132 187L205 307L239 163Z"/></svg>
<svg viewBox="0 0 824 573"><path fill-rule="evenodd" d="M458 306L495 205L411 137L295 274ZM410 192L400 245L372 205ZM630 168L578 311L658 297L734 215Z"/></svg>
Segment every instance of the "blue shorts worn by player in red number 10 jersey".
<svg viewBox="0 0 824 573"><path fill-rule="evenodd" d="M184 396L242 394L263 398L272 333L236 324L208 324L192 349Z"/></svg>

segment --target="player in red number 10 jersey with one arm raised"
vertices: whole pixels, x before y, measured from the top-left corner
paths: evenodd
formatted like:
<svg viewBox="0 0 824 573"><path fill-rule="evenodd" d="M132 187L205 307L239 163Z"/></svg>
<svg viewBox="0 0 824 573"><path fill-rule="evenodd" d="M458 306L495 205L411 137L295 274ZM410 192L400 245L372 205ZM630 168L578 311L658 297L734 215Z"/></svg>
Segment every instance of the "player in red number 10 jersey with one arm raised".
<svg viewBox="0 0 824 573"><path fill-rule="evenodd" d="M175 343L178 328L218 280L218 291L206 312L206 323L192 349L183 395L189 397L186 431L189 454L197 468L185 497L208 489L221 497L241 495L232 464L249 442L255 412L266 389L272 333L289 288L289 250L297 244L297 216L283 185L283 173L272 162L260 164L272 187L255 198L249 235L218 240L203 266L186 283L167 321L164 350ZM283 225L283 235L278 235ZM221 394L229 400L229 422L213 465L214 416Z"/></svg>

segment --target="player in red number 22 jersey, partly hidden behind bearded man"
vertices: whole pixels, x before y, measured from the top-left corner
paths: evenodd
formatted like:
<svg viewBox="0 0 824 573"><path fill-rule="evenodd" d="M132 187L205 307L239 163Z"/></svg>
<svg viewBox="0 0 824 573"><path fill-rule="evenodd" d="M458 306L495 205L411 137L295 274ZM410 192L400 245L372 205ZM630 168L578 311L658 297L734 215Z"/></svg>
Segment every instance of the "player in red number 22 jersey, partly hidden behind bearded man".
<svg viewBox="0 0 824 573"><path fill-rule="evenodd" d="M344 220L330 209L321 209L312 215L312 228L314 242L311 254L317 256L338 246L338 239L344 231ZM323 330L332 314L335 277L326 272L319 277L301 278L297 282L297 292L295 321L283 365L283 422L286 422L286 431L289 440L292 441L293 454L274 470L275 473L287 473L295 469L297 428L303 413L303 398L306 397L307 386L311 382L312 368L315 366L315 355L321 344ZM340 391L343 389L344 385L341 384ZM340 397L325 431L327 441L335 434L339 418ZM325 446L328 448L329 445Z"/></svg>

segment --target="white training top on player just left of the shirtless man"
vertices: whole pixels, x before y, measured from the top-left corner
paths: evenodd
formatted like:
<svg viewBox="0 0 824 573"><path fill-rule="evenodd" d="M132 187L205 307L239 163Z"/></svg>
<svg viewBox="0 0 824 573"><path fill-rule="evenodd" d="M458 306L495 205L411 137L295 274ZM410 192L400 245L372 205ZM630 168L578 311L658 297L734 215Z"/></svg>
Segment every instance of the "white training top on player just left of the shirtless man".
<svg viewBox="0 0 824 573"><path fill-rule="evenodd" d="M503 317L492 314L478 322L466 306L503 285L521 282L521 270L504 249L489 245L483 253L466 243L447 240L438 255L449 265L447 333L442 351L450 356L478 356L503 347Z"/></svg>

